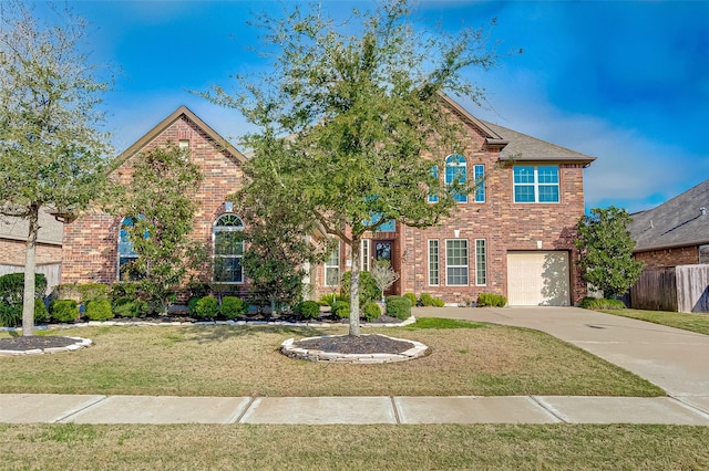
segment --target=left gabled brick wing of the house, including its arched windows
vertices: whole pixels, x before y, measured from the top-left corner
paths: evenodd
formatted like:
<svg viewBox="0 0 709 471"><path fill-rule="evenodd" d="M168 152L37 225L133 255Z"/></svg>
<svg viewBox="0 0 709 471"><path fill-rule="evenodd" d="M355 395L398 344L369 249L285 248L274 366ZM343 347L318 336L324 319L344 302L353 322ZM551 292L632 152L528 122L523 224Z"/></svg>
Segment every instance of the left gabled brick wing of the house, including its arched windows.
<svg viewBox="0 0 709 471"><path fill-rule="evenodd" d="M227 195L242 187L245 157L193 112L181 106L119 157L114 176L119 181L130 181L134 159L140 158L141 153L167 143L189 148L193 161L202 169L204 181L195 195L199 210L192 238L204 241L213 250L214 238L228 238L243 229L240 219L232 212L232 205L226 200ZM122 231L125 223L130 221L93 211L65 224L62 283L120 281L120 265L135 257ZM216 259L233 269L229 281L242 284L240 255L222 255L216 254Z"/></svg>

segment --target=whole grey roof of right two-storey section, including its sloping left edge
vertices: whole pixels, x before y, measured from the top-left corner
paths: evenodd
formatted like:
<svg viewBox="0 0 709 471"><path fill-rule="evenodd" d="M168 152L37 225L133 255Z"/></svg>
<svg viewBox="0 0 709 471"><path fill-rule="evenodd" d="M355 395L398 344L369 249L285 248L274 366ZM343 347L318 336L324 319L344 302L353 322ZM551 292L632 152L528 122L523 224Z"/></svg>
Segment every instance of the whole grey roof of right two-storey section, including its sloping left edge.
<svg viewBox="0 0 709 471"><path fill-rule="evenodd" d="M476 118L453 98L444 93L439 93L443 102L467 123L480 129L489 146L500 147L500 160L508 161L577 161L588 165L596 157L527 136L526 134L508 129L506 127Z"/></svg>

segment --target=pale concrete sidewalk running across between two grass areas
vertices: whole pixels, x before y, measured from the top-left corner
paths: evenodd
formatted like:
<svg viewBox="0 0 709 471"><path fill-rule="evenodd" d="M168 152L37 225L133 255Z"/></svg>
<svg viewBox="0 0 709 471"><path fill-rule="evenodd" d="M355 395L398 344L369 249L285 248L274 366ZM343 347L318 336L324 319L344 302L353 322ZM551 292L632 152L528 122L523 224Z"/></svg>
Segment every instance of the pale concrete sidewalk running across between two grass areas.
<svg viewBox="0 0 709 471"><path fill-rule="evenodd" d="M4 423L664 423L709 426L709 401L618 397L0 395Z"/></svg>

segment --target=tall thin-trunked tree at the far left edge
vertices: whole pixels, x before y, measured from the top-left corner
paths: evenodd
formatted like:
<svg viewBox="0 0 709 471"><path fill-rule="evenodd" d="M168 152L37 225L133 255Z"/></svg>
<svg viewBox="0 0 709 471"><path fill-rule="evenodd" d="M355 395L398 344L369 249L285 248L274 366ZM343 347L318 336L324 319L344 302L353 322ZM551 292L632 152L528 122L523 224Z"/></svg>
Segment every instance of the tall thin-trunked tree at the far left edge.
<svg viewBox="0 0 709 471"><path fill-rule="evenodd" d="M68 11L39 23L23 2L0 19L0 214L29 222L22 335L34 329L40 208L64 214L88 207L109 157L99 105L109 83L81 52L85 25Z"/></svg>

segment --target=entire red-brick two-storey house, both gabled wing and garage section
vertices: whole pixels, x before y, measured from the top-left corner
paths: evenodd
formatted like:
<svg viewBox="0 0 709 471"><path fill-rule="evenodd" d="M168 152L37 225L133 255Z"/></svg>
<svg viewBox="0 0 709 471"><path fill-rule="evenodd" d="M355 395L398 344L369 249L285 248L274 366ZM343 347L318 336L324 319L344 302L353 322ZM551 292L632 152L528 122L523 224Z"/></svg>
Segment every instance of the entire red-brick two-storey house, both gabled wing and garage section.
<svg viewBox="0 0 709 471"><path fill-rule="evenodd" d="M576 153L475 118L443 96L464 124L469 145L446 158L442 179L464 175L480 180L476 191L460 197L454 214L425 230L395 222L369 234L360 248L362 269L387 259L400 274L391 293L430 293L446 303L475 301L477 294L504 294L510 304L568 305L586 294L576 269L573 238L584 213L583 169L594 157ZM218 274L244 293L247 281L239 253L214 253L214 243L243 229L226 197L242 187L244 156L185 107L155 126L120 157L120 178L129 178L131 159L168 140L188 146L205 176L197 191L201 211L195 240L205 241L215 261L229 268ZM431 200L431 203L434 203ZM86 214L64 229L62 283L119 280L119 266L130 259L121 238L125 223L104 213ZM234 247L234 245L233 245ZM351 266L343 244L329 260L311 269L311 293L338 289Z"/></svg>

